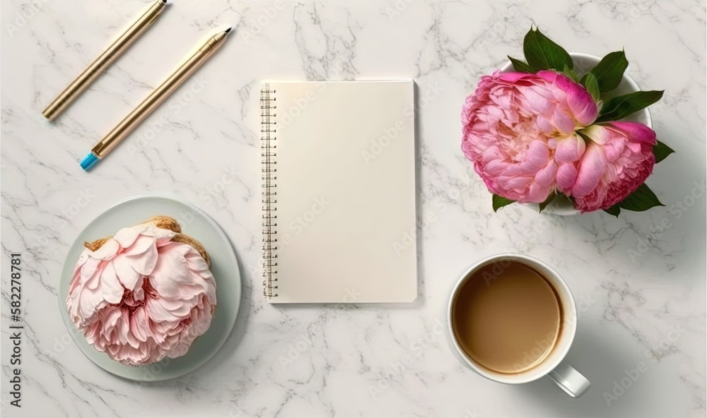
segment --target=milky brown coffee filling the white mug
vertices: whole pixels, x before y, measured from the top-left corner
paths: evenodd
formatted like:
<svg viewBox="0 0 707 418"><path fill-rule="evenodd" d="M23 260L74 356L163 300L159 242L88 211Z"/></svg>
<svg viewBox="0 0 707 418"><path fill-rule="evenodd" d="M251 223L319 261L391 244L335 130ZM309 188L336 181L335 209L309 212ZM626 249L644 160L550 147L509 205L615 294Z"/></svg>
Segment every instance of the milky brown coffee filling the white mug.
<svg viewBox="0 0 707 418"><path fill-rule="evenodd" d="M462 284L452 304L452 329L464 354L498 373L517 373L542 362L561 324L552 285L517 261L484 265Z"/></svg>

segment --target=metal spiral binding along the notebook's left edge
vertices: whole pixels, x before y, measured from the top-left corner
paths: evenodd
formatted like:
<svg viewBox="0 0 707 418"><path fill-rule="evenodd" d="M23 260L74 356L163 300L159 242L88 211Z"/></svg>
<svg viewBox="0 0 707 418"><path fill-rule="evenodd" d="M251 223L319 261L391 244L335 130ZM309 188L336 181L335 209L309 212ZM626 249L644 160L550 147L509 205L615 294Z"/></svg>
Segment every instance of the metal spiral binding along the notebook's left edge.
<svg viewBox="0 0 707 418"><path fill-rule="evenodd" d="M262 162L263 294L277 297L277 122L275 90L260 90L260 160Z"/></svg>

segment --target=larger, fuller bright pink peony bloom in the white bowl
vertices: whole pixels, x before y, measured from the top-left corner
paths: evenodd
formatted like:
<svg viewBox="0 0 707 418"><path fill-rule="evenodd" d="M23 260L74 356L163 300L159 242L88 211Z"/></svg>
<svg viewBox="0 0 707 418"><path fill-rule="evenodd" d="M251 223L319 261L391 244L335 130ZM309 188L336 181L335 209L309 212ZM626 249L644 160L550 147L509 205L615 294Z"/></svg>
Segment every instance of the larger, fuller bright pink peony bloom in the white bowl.
<svg viewBox="0 0 707 418"><path fill-rule="evenodd" d="M575 131L596 118L592 96L561 73L496 71L464 103L462 151L489 191L540 203L585 152Z"/></svg>

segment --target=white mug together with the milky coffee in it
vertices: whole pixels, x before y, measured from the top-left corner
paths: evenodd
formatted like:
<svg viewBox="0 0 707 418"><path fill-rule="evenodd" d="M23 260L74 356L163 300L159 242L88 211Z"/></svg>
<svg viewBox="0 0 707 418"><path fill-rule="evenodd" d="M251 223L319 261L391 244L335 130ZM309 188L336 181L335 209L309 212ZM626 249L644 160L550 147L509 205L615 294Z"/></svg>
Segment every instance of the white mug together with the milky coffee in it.
<svg viewBox="0 0 707 418"><path fill-rule="evenodd" d="M548 265L520 254L486 258L457 282L448 307L452 344L467 366L493 381L552 378L578 397L589 381L563 362L574 339L572 294Z"/></svg>

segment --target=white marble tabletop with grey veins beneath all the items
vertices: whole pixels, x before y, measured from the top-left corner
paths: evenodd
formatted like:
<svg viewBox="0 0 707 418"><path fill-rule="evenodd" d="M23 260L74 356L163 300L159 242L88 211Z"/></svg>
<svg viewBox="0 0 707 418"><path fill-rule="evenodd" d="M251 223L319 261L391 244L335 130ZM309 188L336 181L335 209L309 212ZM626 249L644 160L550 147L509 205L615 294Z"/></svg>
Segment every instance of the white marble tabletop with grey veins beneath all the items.
<svg viewBox="0 0 707 418"><path fill-rule="evenodd" d="M271 1L171 3L49 124L40 116L46 104L146 3L3 1L4 417L705 416L703 1L303 0L278 3L279 10ZM639 85L665 89L653 107L654 127L677 155L648 181L665 208L618 220L604 213L557 218L518 206L491 211L460 152L460 106L482 74L506 54L521 55L533 20L573 52L624 47ZM93 172L82 172L76 159L192 44L228 25L237 25L235 36L177 91L182 102L161 107ZM419 97L430 97L418 113L419 216L427 220L419 229L419 301L343 309L264 303L257 277L258 80L380 76L413 77ZM163 127L154 125L160 115L168 119ZM57 281L66 251L90 220L116 201L151 192L178 196L218 220L238 251L245 284L238 323L214 359L176 381L139 386L98 369L69 340ZM23 253L25 266L21 410L8 406L11 251ZM581 314L568 362L593 383L583 398L569 398L548 379L525 386L486 381L435 333L452 282L468 265L503 251L542 258L573 289ZM292 364L283 366L290 355ZM393 371L406 355L412 363ZM647 370L607 405L604 393L640 362ZM375 387L382 389L372 395Z"/></svg>

